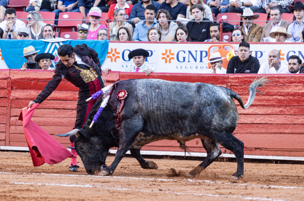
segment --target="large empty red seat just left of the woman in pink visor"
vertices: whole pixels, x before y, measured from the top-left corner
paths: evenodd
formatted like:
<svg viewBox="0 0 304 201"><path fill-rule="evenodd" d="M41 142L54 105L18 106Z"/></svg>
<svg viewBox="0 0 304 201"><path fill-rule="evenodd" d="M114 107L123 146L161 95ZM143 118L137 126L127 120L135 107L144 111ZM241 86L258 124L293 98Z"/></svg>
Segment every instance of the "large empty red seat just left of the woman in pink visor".
<svg viewBox="0 0 304 201"><path fill-rule="evenodd" d="M58 25L54 26L54 29L56 29L56 31L59 33L67 31L77 31L78 24L82 24L82 13L60 12L58 18Z"/></svg>

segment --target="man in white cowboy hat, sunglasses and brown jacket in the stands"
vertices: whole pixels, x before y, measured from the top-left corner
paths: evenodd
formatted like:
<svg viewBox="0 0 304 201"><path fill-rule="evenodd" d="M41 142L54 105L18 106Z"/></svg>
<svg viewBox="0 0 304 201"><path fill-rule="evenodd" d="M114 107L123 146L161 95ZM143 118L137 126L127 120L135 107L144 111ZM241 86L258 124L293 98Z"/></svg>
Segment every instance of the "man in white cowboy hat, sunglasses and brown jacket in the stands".
<svg viewBox="0 0 304 201"><path fill-rule="evenodd" d="M260 15L254 15L250 8L245 8L243 15L237 15L243 19L242 32L244 33L244 41L260 42L263 27L253 23L253 20L257 19Z"/></svg>

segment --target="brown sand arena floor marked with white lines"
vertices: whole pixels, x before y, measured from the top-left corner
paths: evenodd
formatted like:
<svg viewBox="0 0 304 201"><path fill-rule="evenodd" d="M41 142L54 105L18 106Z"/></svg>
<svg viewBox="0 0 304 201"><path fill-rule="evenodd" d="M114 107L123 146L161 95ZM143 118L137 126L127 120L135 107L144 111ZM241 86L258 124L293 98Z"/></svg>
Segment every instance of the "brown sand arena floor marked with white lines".
<svg viewBox="0 0 304 201"><path fill-rule="evenodd" d="M106 164L113 160L108 156ZM304 165L245 163L244 178L230 182L234 162L213 162L188 179L183 175L200 161L149 160L157 170L125 157L112 176L102 177L88 175L80 158L79 172L68 172L70 159L33 167L28 152L2 151L0 200L304 200Z"/></svg>

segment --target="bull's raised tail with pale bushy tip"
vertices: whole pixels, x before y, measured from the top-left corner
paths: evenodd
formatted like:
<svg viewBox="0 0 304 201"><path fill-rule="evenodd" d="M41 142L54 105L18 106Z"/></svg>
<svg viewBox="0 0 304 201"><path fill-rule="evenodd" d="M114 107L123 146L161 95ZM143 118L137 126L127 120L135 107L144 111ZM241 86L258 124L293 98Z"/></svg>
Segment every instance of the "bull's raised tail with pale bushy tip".
<svg viewBox="0 0 304 201"><path fill-rule="evenodd" d="M253 102L256 92L264 94L260 90L257 90L257 88L264 86L264 84L266 82L270 82L270 80L267 80L266 77L259 78L259 79L257 79L257 78L254 79L254 81L250 84L249 89L248 89L249 98L248 98L248 101L247 101L246 105L244 105L244 102L243 102L242 98L237 93L232 91L232 93L230 94L230 97L236 99L240 103L240 106L243 109L247 109L251 105L251 103Z"/></svg>

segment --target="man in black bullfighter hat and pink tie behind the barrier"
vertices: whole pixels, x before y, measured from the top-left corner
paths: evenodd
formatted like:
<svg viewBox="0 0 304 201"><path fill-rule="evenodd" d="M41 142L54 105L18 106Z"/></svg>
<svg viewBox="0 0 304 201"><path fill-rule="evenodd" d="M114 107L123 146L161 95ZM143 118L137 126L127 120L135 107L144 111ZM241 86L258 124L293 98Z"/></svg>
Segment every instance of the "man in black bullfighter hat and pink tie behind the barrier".
<svg viewBox="0 0 304 201"><path fill-rule="evenodd" d="M155 69L153 68L153 65L145 64L145 60L147 57L149 57L149 52L144 49L136 49L132 50L128 54L129 59L133 58L135 65L130 65L129 68L126 68L125 72L145 72L146 76L150 75L150 73L155 72ZM111 71L110 68L103 69L103 72L105 75L107 75Z"/></svg>

